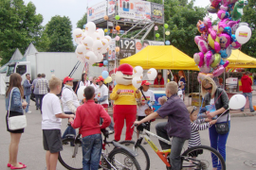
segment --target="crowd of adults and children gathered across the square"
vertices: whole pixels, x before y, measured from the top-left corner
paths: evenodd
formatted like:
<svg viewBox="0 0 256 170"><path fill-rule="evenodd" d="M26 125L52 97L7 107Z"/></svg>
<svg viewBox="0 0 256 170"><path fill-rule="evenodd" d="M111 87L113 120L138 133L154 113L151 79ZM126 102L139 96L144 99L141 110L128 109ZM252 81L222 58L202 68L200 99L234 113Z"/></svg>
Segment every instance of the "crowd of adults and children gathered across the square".
<svg viewBox="0 0 256 170"><path fill-rule="evenodd" d="M242 77L244 86L250 87L251 79L248 74ZM179 76L179 78L178 78ZM162 105L160 109L147 114L148 109L152 109L155 104L155 94L150 90L151 83L143 80L141 87L136 90L137 96L137 121L134 124L140 125L144 122L152 122L157 116L162 118L168 116L168 122L156 124L155 129L158 136L170 141L172 140L172 152L170 161L173 169L181 168L180 154L186 140L189 140L189 147L201 144L198 130L209 128L210 146L219 151L226 161L226 144L229 137L229 131L224 134L218 133L214 124L227 123L230 128L229 115L229 97L224 89L216 86L213 79L206 77L201 82L201 92L207 106L211 106L213 110L205 111L205 118L198 121L196 107L186 108L183 100L185 97L186 76L184 72L179 72L178 76L174 76L174 81L166 84L166 98L159 101ZM58 77L52 76L50 80L46 80L45 74L39 74L31 83L30 76L26 75L23 87L21 85L22 78L18 74L12 74L9 79L9 89L6 93L6 110L7 113L7 129L10 132L9 144L9 162L11 169L26 168L22 162L17 161L18 144L24 128L11 130L9 129L8 117L23 115L24 110L28 110L31 92L35 94L36 109L40 109L42 113L42 129L43 144L46 150L46 167L47 170L54 170L57 166L58 154L63 149L62 139L67 134L76 135L75 128L80 128L82 134L82 165L83 169L98 169L101 157L101 129L109 127L115 131L115 140L120 140L121 129L115 127L122 124L120 122L120 114L114 115L114 122L108 114L109 107L109 90L104 84L102 76L94 76L92 82L87 80L87 74L82 74L82 80L79 86L85 86L84 97L82 101L78 100L77 94L73 90L73 78L64 77L64 87L62 81ZM163 77L158 74L155 83L161 84ZM154 84L155 84L154 83ZM121 87L121 86L119 86ZM251 88L243 89L245 96L251 101ZM57 94L62 92L61 100ZM111 99L117 99L121 89L114 89L111 93ZM23 101L25 95L26 101ZM123 101L119 98L116 107ZM129 101L128 101L129 102ZM251 102L250 110L254 111ZM63 110L62 110L63 106ZM129 106L129 110L132 107ZM116 108L117 110L117 108ZM244 108L242 109L244 110ZM124 110L123 110L124 111ZM125 112L125 111L124 111ZM68 126L62 136L61 124L62 118L68 118L71 126ZM74 119L75 118L75 119ZM127 126L127 125L126 125ZM150 126L147 127L150 130ZM126 131L126 140L132 140L129 130ZM171 148L170 144L159 141L162 149ZM70 144L71 146L74 144ZM193 153L196 158L200 152ZM91 158L94 159L91 159ZM213 169L217 169L220 165L218 161L212 158Z"/></svg>

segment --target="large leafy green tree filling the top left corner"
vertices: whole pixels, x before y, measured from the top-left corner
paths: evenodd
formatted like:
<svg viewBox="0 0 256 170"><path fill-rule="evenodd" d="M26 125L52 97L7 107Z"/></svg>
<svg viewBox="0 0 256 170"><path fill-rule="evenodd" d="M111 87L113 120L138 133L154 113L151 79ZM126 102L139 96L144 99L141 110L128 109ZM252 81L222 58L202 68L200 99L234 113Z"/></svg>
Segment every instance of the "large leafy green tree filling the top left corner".
<svg viewBox="0 0 256 170"><path fill-rule="evenodd" d="M36 7L23 0L0 1L0 57L1 64L9 61L16 48L22 53L30 42L38 42L43 16Z"/></svg>

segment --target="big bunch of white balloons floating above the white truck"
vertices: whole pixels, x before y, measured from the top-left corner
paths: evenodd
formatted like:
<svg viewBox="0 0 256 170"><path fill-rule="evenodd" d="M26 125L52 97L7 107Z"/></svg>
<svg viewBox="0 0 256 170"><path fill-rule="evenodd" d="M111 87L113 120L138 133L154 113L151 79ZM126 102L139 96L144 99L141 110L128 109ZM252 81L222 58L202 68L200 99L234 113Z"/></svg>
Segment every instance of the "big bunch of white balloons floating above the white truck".
<svg viewBox="0 0 256 170"><path fill-rule="evenodd" d="M109 49L110 36L104 36L103 29L97 29L93 22L85 25L85 29L76 28L73 31L75 42L78 43L76 49L77 58L82 62L94 64L101 62L104 53Z"/></svg>

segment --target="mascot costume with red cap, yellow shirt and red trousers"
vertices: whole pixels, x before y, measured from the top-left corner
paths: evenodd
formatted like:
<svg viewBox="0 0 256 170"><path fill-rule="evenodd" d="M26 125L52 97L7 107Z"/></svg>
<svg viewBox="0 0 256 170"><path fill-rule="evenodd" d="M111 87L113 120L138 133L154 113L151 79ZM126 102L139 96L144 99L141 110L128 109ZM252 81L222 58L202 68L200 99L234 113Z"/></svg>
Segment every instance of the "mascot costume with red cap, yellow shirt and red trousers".
<svg viewBox="0 0 256 170"><path fill-rule="evenodd" d="M131 128L136 121L137 100L141 93L133 86L133 67L129 64L121 64L112 78L116 80L117 85L110 94L111 100L114 100L114 129L115 141L120 140L121 130L126 121L125 140L132 140L134 129Z"/></svg>

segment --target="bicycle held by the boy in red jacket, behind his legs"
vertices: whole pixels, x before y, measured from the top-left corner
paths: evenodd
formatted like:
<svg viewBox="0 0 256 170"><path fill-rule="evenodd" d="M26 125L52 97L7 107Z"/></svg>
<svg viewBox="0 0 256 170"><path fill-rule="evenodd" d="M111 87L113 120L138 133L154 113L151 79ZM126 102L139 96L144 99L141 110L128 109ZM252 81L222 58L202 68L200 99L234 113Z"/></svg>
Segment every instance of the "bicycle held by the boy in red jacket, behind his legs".
<svg viewBox="0 0 256 170"><path fill-rule="evenodd" d="M102 131L102 130L101 130ZM103 170L140 170L140 166L136 160L137 153L122 145L118 142L112 141L107 142L107 138L110 133L107 130L103 130L102 134L104 136L101 151L101 161L99 164L99 169ZM74 146L70 146L68 143L73 143ZM67 144L66 144L67 143ZM108 153L106 145L114 145L114 149ZM63 139L63 151L60 152L58 160L61 164L69 170L82 170L82 137L81 134L66 135Z"/></svg>

